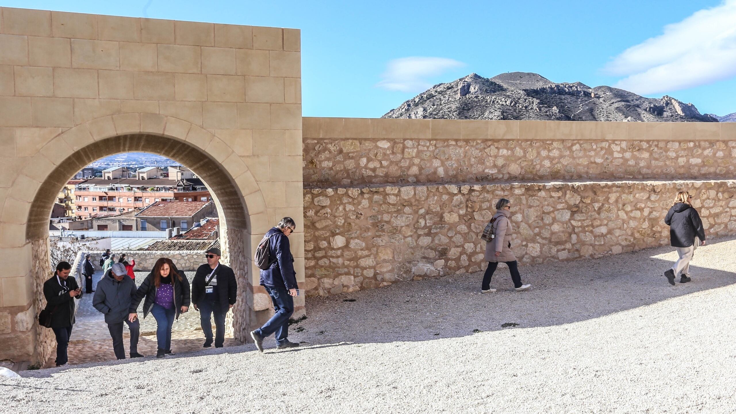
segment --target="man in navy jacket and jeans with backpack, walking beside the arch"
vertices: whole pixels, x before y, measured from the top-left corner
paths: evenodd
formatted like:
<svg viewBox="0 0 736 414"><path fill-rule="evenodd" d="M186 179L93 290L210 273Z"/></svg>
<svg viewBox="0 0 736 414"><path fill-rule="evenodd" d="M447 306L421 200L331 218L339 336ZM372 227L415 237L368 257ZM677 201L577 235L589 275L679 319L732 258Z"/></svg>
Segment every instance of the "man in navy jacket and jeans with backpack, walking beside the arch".
<svg viewBox="0 0 736 414"><path fill-rule="evenodd" d="M255 253L255 262L261 268L261 286L271 295L274 315L261 328L250 332L258 351L263 352L263 338L276 334L276 348L293 348L298 343L289 341L289 317L294 313L294 296L298 294L294 256L291 256L289 235L297 227L291 217L284 217L263 236Z"/></svg>

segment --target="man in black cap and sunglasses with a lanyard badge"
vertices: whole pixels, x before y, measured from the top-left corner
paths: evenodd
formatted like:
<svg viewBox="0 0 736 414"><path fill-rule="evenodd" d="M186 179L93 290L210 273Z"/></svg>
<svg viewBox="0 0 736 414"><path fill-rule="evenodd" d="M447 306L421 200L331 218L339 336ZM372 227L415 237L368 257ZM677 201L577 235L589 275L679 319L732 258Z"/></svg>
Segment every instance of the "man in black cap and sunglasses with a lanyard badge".
<svg viewBox="0 0 736 414"><path fill-rule="evenodd" d="M204 348L212 346L212 322L215 316L215 348L222 348L225 341L225 315L235 305L238 283L233 269L220 263L220 249L205 252L207 264L202 264L191 281L191 303L199 311L202 332L205 334Z"/></svg>

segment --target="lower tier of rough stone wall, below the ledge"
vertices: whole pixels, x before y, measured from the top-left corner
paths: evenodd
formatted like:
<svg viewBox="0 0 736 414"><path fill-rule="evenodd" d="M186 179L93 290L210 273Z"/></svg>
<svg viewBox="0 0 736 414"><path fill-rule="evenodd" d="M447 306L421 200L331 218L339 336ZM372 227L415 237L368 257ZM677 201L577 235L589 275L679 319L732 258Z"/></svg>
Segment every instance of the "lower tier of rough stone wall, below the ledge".
<svg viewBox="0 0 736 414"><path fill-rule="evenodd" d="M736 234L734 180L305 189L307 295L484 269L479 235L501 197L521 264L667 245L663 220L682 190L707 236Z"/></svg>

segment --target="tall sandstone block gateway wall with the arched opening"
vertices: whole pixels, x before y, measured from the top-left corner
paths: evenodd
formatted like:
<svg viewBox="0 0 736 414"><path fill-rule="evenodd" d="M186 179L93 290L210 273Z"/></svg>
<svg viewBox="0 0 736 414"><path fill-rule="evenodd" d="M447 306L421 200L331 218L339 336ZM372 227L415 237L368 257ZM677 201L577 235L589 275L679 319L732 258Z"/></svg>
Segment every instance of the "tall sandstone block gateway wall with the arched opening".
<svg viewBox="0 0 736 414"><path fill-rule="evenodd" d="M120 152L164 155L206 183L238 275L234 334L246 340L269 304L252 251L283 216L297 220L303 281L299 31L0 13L0 85L12 85L0 87L0 360L44 362L53 350L36 323L51 207L79 169Z"/></svg>

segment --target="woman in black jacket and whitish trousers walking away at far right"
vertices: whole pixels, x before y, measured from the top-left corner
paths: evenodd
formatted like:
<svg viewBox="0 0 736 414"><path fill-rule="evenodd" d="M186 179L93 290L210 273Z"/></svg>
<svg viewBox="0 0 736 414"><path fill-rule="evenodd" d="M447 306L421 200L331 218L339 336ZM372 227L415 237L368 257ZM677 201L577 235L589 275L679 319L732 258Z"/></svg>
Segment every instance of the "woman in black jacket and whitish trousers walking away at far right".
<svg viewBox="0 0 736 414"><path fill-rule="evenodd" d="M680 256L673 267L665 271L665 277L672 286L675 285L675 276L678 273L681 274L680 283L692 280L690 260L693 259L698 240L701 246L705 245L705 229L698 211L690 205L692 198L687 192L677 193L675 202L665 217L665 224L670 226L670 245L676 248Z"/></svg>

